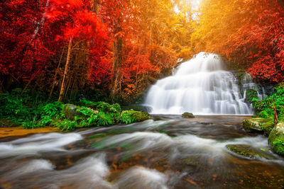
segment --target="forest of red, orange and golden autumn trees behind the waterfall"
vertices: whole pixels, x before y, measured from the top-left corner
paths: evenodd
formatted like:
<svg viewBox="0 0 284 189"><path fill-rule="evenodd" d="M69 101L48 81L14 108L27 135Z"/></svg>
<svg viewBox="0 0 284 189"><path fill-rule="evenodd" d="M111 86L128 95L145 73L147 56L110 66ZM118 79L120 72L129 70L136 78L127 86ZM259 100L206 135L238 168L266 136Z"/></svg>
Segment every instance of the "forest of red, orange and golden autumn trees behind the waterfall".
<svg viewBox="0 0 284 189"><path fill-rule="evenodd" d="M44 105L78 96L142 103L151 84L199 52L259 84L284 79L282 1L8 0L0 10L4 118L38 120Z"/></svg>

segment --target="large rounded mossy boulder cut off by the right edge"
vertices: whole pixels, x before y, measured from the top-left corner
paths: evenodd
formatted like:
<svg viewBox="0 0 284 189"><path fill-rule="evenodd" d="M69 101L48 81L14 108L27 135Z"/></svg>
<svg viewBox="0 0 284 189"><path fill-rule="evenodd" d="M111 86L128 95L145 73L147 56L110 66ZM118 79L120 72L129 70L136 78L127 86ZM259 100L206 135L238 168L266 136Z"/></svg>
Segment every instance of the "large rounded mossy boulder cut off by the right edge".
<svg viewBox="0 0 284 189"><path fill-rule="evenodd" d="M268 137L268 144L276 154L284 155L284 122L273 128Z"/></svg>

